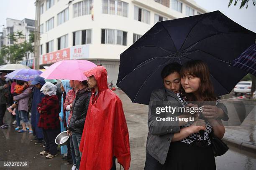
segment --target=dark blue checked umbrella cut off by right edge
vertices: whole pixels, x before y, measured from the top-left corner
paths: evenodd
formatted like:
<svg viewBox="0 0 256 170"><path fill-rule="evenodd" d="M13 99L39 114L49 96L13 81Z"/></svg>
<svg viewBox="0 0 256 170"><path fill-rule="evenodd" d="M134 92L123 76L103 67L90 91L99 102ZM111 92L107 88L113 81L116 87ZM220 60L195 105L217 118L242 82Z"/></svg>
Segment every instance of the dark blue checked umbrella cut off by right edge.
<svg viewBox="0 0 256 170"><path fill-rule="evenodd" d="M248 47L247 50L236 58L232 66L241 68L256 76L256 43Z"/></svg>

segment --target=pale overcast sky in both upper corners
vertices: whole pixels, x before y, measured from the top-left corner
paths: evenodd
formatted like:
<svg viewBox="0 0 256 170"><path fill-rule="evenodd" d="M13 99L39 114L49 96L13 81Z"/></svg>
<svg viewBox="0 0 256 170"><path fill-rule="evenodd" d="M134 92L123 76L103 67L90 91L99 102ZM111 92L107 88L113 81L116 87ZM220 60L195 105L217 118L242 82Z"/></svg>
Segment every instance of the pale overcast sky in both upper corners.
<svg viewBox="0 0 256 170"><path fill-rule="evenodd" d="M68 0L66 0L68 1ZM239 9L238 5L228 8L229 0L195 0L198 5L206 10L220 10L230 19L236 21L243 27L256 32L256 6L253 6L252 0L249 0L248 9ZM22 20L24 18L35 19L35 0L1 0L0 5L0 25L5 25L6 18ZM2 30L0 26L0 31Z"/></svg>

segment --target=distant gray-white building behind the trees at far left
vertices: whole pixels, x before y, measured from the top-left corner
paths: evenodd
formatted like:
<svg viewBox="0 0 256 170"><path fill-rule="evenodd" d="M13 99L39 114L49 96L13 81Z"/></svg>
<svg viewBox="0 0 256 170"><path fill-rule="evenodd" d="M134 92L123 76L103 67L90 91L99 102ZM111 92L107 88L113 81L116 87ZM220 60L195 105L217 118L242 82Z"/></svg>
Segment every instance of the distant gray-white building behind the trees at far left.
<svg viewBox="0 0 256 170"><path fill-rule="evenodd" d="M13 45L13 40L10 40L8 38L8 35L13 34L14 32L17 31L22 31L23 35L25 36L25 39L28 41L29 40L29 34L31 32L35 31L35 20L31 20L28 18L25 18L23 20L15 20L12 18L6 18L6 25L5 28L3 28L3 45L5 46L10 46ZM19 39L16 43L20 43L24 41L24 39ZM33 58L34 54L31 53L28 57L28 60L30 65L33 65ZM24 61L21 61L22 64L26 64L25 58L23 59Z"/></svg>

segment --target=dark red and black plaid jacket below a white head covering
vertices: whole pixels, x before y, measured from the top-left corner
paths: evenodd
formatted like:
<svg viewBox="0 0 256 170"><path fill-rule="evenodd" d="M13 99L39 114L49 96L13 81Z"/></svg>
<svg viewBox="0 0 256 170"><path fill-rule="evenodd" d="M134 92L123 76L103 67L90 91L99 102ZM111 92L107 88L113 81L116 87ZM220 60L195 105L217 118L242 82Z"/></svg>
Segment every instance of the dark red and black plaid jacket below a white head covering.
<svg viewBox="0 0 256 170"><path fill-rule="evenodd" d="M57 95L46 95L37 107L41 114L38 121L38 127L44 129L57 129L59 125L59 99Z"/></svg>

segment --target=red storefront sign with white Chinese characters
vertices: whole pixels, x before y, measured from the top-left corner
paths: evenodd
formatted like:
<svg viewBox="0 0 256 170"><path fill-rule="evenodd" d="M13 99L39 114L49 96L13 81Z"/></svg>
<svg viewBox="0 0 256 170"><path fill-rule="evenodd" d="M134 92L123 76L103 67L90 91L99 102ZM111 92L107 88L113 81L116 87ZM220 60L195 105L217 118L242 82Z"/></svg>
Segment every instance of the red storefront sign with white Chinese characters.
<svg viewBox="0 0 256 170"><path fill-rule="evenodd" d="M65 48L55 52L50 52L43 55L43 64L51 64L53 62L70 59L70 49Z"/></svg>

